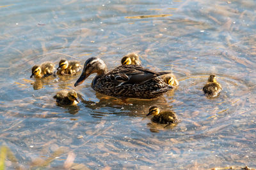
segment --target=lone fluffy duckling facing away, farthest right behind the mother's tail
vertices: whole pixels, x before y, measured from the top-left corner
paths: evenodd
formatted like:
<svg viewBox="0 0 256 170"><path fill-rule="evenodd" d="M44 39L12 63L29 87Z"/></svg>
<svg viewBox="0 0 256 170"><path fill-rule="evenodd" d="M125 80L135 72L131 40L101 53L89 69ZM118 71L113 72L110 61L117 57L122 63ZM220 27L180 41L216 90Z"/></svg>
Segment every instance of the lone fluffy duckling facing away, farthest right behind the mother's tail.
<svg viewBox="0 0 256 170"><path fill-rule="evenodd" d="M217 97L219 96L222 88L220 83L217 82L215 75L210 75L208 78L208 83L203 88L204 93L207 97Z"/></svg>

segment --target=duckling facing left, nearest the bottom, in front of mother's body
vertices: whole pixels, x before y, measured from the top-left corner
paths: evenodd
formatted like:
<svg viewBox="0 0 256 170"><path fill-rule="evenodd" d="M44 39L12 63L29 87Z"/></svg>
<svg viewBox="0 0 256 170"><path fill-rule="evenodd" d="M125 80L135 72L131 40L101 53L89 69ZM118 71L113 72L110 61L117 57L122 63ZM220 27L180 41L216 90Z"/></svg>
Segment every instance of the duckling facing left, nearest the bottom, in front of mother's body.
<svg viewBox="0 0 256 170"><path fill-rule="evenodd" d="M159 123L159 124L175 124L179 122L176 114L172 111L162 111L160 112L157 106L151 106L148 110L149 115L154 115L151 118L152 122Z"/></svg>

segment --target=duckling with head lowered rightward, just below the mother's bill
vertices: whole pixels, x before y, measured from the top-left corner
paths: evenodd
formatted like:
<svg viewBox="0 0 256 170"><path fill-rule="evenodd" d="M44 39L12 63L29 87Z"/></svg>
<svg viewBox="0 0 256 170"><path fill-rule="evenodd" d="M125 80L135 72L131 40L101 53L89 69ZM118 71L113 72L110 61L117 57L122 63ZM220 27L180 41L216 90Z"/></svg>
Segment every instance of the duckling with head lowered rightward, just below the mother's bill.
<svg viewBox="0 0 256 170"><path fill-rule="evenodd" d="M56 102L60 105L76 105L79 103L77 99L77 93L75 90L61 90L53 97L56 99Z"/></svg>

